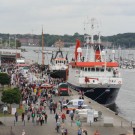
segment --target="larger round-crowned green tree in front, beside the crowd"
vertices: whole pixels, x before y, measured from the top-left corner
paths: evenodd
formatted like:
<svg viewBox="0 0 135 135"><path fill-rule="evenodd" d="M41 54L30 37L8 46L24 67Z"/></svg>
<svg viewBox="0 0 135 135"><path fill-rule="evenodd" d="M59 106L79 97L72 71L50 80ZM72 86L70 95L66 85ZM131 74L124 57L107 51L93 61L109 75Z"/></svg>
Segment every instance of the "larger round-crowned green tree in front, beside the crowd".
<svg viewBox="0 0 135 135"><path fill-rule="evenodd" d="M10 104L10 109L11 109L11 104L13 103L19 104L21 101L20 90L18 88L4 90L2 92L1 101Z"/></svg>

